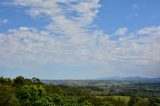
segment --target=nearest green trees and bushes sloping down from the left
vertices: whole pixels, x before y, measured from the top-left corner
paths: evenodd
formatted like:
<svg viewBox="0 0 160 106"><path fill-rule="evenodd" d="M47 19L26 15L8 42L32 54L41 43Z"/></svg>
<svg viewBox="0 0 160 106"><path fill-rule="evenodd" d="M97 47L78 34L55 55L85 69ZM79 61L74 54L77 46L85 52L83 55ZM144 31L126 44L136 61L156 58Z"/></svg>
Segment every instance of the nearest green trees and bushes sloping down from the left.
<svg viewBox="0 0 160 106"><path fill-rule="evenodd" d="M110 92L112 93L112 92ZM0 78L0 106L160 106L160 97L99 96L85 88L42 83L38 78Z"/></svg>

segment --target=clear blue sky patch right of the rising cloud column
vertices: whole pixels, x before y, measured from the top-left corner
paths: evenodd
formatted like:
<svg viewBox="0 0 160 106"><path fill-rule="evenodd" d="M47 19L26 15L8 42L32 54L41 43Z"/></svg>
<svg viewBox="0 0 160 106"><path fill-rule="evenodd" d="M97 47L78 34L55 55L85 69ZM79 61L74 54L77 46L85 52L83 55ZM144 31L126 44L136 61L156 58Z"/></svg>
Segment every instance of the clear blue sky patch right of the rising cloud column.
<svg viewBox="0 0 160 106"><path fill-rule="evenodd" d="M119 27L135 31L160 23L159 0L101 0L100 3L95 23L106 33L113 33Z"/></svg>

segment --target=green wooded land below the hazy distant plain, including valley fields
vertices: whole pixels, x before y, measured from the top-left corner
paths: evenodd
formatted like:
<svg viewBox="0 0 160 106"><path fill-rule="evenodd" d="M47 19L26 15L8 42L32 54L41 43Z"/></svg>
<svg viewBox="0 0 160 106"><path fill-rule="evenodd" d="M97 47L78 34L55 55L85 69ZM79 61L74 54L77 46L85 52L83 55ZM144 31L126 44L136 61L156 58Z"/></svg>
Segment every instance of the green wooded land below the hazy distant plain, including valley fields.
<svg viewBox="0 0 160 106"><path fill-rule="evenodd" d="M0 106L160 106L159 88L158 83L68 86L0 77Z"/></svg>

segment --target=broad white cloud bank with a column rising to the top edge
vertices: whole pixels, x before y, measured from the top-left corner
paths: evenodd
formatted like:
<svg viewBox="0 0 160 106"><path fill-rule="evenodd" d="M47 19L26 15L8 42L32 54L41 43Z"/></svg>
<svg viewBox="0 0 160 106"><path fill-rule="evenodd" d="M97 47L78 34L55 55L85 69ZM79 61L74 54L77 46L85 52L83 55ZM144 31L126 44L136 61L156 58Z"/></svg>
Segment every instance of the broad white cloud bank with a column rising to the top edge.
<svg viewBox="0 0 160 106"><path fill-rule="evenodd" d="M118 29L118 40L92 29L99 0L14 0L27 7L32 17L45 15L51 23L45 30L20 27L0 34L0 63L12 61L39 64L159 64L160 27L135 32Z"/></svg>

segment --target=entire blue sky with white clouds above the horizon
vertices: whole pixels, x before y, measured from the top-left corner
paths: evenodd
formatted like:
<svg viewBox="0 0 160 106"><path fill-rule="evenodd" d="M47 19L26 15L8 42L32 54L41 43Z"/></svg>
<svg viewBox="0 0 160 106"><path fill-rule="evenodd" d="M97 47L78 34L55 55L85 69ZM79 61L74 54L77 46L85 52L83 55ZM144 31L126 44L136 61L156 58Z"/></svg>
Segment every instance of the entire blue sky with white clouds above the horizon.
<svg viewBox="0 0 160 106"><path fill-rule="evenodd" d="M0 0L0 76L160 76L160 0Z"/></svg>

